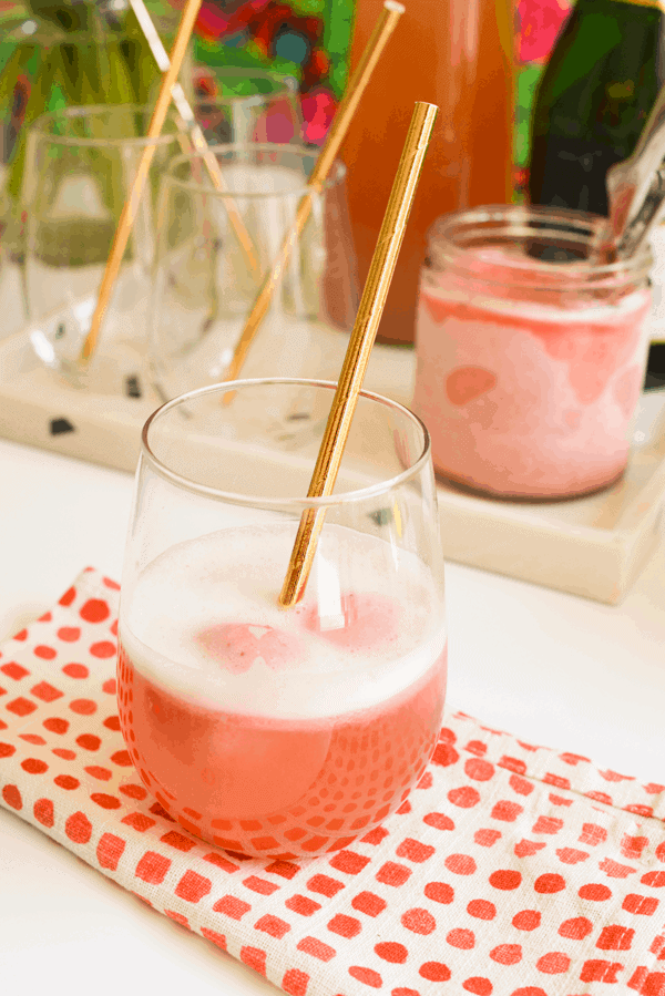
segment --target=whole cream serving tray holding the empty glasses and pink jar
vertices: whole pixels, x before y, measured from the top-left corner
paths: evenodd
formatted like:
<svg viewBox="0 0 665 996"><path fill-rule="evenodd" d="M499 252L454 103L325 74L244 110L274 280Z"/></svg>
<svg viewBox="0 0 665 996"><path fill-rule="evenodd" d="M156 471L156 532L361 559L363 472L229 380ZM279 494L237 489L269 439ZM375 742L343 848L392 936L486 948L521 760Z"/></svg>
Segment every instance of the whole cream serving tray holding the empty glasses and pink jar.
<svg viewBox="0 0 665 996"><path fill-rule="evenodd" d="M413 350L376 346L366 387L408 404ZM133 471L141 428L157 407L141 398L76 390L42 368L28 333L0 342L0 435ZM601 494L570 502L492 501L439 487L444 553L548 587L617 604L658 543L665 501L665 392L644 394L628 469Z"/></svg>

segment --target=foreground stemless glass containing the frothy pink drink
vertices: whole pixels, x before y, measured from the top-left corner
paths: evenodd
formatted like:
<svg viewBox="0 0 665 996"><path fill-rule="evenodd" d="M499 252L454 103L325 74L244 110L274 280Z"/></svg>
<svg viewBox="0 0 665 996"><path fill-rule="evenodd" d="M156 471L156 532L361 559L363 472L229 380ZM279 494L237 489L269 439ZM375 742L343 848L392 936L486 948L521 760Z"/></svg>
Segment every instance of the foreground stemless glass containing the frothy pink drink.
<svg viewBox="0 0 665 996"><path fill-rule="evenodd" d="M275 400L304 388L329 409L331 383L241 380L149 419L120 610L120 722L141 779L193 834L269 858L338 850L393 812L446 690L427 430L362 392L337 493L307 499L318 441L294 452L267 431ZM280 609L311 507L313 569Z"/></svg>

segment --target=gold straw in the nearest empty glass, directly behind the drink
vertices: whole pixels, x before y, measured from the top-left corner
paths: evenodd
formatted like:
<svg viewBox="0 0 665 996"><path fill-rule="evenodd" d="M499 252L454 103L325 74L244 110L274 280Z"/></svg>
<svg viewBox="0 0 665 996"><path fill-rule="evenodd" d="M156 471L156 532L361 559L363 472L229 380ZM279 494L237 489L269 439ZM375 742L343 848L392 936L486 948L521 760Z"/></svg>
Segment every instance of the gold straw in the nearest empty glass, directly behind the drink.
<svg viewBox="0 0 665 996"><path fill-rule="evenodd" d="M358 68L349 81L347 93L337 109L324 147L320 151L316 166L309 177L309 183L307 185L308 192L300 199L294 223L282 244L270 271L267 274L260 286L252 311L249 312L245 327L241 333L241 338L236 343L231 363L224 374L224 380L236 380L241 372L249 347L252 346L258 328L269 308L273 292L284 275L293 247L309 217L311 212L311 199L315 195L320 193L328 177L328 173L339 153L341 143L344 142L349 124L351 123L351 117L356 113L356 107L360 102L360 97L365 92L369 78L403 12L405 7L401 3L397 3L396 0L386 0L383 3L379 20L377 21L371 38L367 43L367 48L362 53L362 58L358 63ZM225 400L229 397L233 397L233 392L228 392L228 394L225 396Z"/></svg>

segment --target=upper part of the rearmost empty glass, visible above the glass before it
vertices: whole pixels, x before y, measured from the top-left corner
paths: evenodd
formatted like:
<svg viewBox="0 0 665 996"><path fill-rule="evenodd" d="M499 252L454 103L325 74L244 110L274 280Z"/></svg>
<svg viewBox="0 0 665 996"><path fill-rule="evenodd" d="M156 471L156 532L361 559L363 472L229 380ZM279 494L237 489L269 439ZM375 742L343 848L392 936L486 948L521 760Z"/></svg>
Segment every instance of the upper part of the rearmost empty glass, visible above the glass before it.
<svg viewBox="0 0 665 996"><path fill-rule="evenodd" d="M263 70L225 66L196 97L196 120L209 145L301 142L303 116L295 80Z"/></svg>

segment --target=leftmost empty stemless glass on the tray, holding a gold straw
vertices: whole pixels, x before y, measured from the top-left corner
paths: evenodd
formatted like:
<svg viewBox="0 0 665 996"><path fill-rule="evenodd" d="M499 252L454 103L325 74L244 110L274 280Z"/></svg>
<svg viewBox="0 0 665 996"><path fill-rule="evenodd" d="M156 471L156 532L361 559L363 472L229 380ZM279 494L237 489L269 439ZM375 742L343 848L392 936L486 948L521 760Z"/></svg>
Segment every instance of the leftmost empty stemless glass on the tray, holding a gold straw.
<svg viewBox="0 0 665 996"><path fill-rule="evenodd" d="M22 203L31 342L48 367L78 387L102 393L141 393L153 204L160 175L181 152L174 115L155 140L146 137L150 116L150 109L129 104L69 107L42 115L28 136ZM79 357L106 258L149 145L154 146L149 179L98 350L83 369Z"/></svg>

